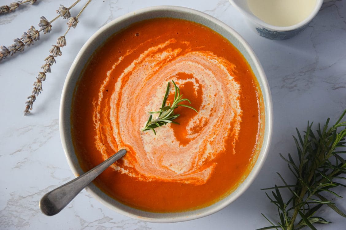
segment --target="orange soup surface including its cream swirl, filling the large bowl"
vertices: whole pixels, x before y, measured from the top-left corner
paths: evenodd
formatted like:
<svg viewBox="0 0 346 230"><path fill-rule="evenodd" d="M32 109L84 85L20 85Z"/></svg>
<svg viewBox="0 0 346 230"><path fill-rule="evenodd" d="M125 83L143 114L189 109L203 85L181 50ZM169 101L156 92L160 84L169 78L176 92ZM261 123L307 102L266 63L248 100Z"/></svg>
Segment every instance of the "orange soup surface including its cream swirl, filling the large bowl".
<svg viewBox="0 0 346 230"><path fill-rule="evenodd" d="M198 113L178 107L180 124L141 131L172 81ZM166 104L173 98L171 84ZM114 34L85 66L73 100L83 170L126 149L94 183L141 210L193 210L224 198L262 143L262 94L249 64L227 39L190 21L145 20Z"/></svg>

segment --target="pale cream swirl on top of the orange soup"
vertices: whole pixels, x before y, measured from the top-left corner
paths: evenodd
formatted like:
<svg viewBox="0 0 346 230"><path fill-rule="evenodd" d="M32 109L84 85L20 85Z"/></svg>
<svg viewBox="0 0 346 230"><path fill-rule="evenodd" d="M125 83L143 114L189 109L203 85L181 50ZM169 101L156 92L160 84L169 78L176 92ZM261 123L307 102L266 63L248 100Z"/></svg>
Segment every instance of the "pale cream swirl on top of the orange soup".
<svg viewBox="0 0 346 230"><path fill-rule="evenodd" d="M172 49L174 43L180 48ZM126 66L114 82L114 90L108 92L111 97L104 108L101 102L107 85L112 84L112 71L136 51L127 50L113 63L100 87L98 101L94 102L97 149L107 159L105 141L113 151L130 146L124 164L113 168L139 180L206 183L215 168L213 159L226 151L227 139L237 140L240 130L240 86L233 77L234 64L211 51L194 51L189 41L169 39L147 48ZM182 73L188 78L181 79ZM186 145L174 134L172 126L177 124L157 128L156 135L140 131L148 111L161 107L167 82L172 80L178 87L190 82L193 93L197 95L199 91L202 99L199 112L186 126L184 138L190 140ZM170 92L173 94L174 90ZM104 109L110 111L107 119L100 116ZM227 154L235 154L234 146Z"/></svg>

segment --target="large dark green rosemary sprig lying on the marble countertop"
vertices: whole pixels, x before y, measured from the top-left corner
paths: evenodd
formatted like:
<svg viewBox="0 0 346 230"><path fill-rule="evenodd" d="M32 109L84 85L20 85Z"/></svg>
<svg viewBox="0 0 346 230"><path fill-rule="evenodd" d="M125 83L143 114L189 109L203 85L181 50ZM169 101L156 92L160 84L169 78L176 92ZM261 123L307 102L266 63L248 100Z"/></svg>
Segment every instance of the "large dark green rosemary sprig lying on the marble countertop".
<svg viewBox="0 0 346 230"><path fill-rule="evenodd" d="M346 218L346 214L338 209L335 204L325 197L332 194L340 197L331 189L338 186L346 187L339 181L346 180L346 160L341 156L346 150L346 122L340 122L345 116L343 112L339 120L328 129L329 118L321 129L318 124L317 134L311 130L309 124L305 134L301 136L298 129L298 139L293 137L297 145L299 162L295 163L291 154L288 159L280 154L280 157L288 163L288 168L297 179L295 184L288 184L280 173L277 173L284 183L283 186L267 188L272 191L272 196L267 197L275 204L279 213L280 221L275 224L262 215L272 224L264 229L299 230L305 227L316 230L315 224L327 224L329 221L316 216L315 213L325 205L328 205L340 216ZM338 129L342 129L338 132ZM282 189L288 189L290 198L284 201L281 195Z"/></svg>

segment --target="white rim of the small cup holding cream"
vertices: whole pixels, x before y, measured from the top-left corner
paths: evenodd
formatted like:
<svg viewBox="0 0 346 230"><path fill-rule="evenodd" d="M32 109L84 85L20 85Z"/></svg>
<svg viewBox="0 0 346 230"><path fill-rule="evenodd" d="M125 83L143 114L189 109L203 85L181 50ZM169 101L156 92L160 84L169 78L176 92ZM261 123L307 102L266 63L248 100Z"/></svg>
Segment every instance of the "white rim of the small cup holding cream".
<svg viewBox="0 0 346 230"><path fill-rule="evenodd" d="M255 23L271 29L273 31L290 31L290 30L295 30L295 29L299 29L301 27L303 27L304 25L308 24L318 13L318 11L320 10L323 0L316 0L316 5L315 8L313 8L312 12L309 14L308 17L306 17L303 21L294 24L292 26L273 26L271 24L268 24L264 21L262 21L260 18L256 17L254 14L249 13L248 11L244 10L242 7L240 7L236 1L234 0L229 0L229 2L237 9L239 10L242 14L244 14L247 19L251 19L250 21L254 21Z"/></svg>

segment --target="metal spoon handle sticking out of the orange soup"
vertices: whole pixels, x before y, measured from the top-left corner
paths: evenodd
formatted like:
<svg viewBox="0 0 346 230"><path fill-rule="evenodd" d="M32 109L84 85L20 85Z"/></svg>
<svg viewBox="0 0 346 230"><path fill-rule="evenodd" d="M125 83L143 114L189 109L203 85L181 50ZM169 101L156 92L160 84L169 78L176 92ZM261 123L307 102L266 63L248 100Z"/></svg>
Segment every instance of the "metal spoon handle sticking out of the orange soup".
<svg viewBox="0 0 346 230"><path fill-rule="evenodd" d="M119 160L126 153L125 149L103 161L95 168L89 170L83 175L67 182L66 184L45 194L39 202L41 211L47 216L53 216L60 212L77 194L91 183L97 176L106 170L112 163Z"/></svg>

